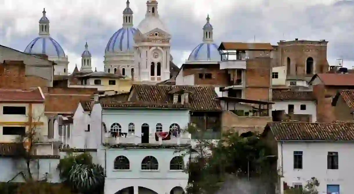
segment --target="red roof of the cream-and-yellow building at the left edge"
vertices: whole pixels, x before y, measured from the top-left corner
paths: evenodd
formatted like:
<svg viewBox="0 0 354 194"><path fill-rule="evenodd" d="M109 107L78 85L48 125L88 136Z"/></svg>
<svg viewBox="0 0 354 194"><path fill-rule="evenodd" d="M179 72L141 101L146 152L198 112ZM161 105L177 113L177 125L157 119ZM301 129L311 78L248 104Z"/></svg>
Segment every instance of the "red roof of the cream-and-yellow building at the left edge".
<svg viewBox="0 0 354 194"><path fill-rule="evenodd" d="M0 102L44 102L42 93L38 87L32 90L7 90L0 89Z"/></svg>

